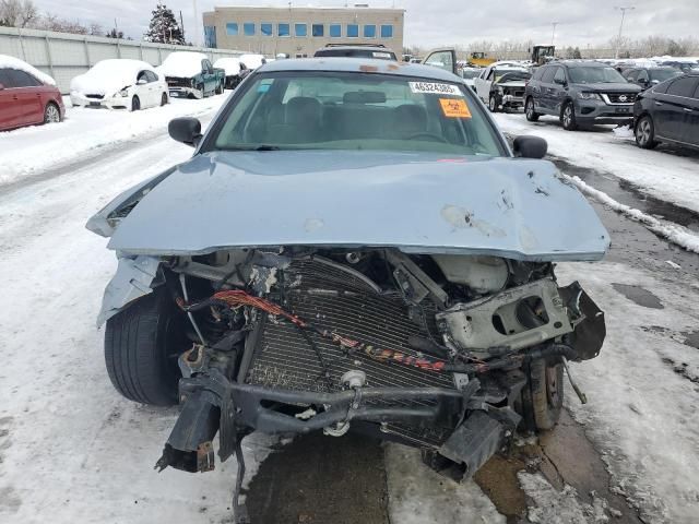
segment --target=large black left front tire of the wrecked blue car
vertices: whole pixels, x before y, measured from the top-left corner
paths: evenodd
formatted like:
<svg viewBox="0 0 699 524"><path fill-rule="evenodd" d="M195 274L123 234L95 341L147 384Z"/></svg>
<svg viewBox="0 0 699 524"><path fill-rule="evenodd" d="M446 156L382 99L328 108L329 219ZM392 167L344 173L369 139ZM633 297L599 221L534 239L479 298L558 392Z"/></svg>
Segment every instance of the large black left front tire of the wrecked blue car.
<svg viewBox="0 0 699 524"><path fill-rule="evenodd" d="M154 406L177 404L177 357L191 346L186 321L164 287L107 321L107 373L122 396Z"/></svg>

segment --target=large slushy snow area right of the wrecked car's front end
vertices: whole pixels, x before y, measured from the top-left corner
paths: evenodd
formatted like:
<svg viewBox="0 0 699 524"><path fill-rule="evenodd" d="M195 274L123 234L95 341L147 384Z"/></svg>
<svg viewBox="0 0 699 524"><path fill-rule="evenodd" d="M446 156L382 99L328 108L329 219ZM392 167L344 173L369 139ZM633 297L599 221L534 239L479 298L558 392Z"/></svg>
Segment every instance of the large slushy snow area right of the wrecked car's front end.
<svg viewBox="0 0 699 524"><path fill-rule="evenodd" d="M600 356L571 365L589 403L568 395L567 405L601 451L613 489L644 522L696 522L699 352L683 342L699 325L699 283L604 262L560 264L557 274L561 285L579 279L606 314ZM663 309L637 305L612 283L643 286Z"/></svg>

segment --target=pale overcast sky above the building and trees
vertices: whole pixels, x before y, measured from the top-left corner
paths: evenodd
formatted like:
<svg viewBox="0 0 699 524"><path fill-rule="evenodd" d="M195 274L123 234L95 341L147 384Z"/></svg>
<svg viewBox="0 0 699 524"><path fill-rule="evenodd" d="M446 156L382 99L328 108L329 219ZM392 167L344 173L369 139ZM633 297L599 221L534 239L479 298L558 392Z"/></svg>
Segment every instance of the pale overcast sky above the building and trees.
<svg viewBox="0 0 699 524"><path fill-rule="evenodd" d="M40 11L56 13L83 23L96 22L111 27L114 19L127 36L139 39L147 28L157 0L35 0ZM179 16L182 11L188 39L194 26L194 0L165 2ZM692 36L699 26L699 0L355 0L370 7L396 7L406 10L406 45L438 46L467 44L474 40L528 40L549 44L552 22L557 45L606 47L619 31L621 14L614 5L635 5L627 12L624 35ZM288 5L288 1L197 0L201 13L214 5ZM343 7L343 0L294 1L294 5ZM201 36L199 41L201 43Z"/></svg>

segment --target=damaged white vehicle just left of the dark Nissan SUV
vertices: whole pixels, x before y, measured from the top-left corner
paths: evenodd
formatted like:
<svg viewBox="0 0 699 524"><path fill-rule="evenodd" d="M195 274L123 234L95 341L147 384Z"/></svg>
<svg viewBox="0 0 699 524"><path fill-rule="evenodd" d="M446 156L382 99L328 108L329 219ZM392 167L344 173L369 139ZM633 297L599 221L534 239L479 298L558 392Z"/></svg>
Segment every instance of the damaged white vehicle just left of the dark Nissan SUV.
<svg viewBox="0 0 699 524"><path fill-rule="evenodd" d="M478 97L491 111L499 108L517 108L524 105L524 84L532 76L517 62L495 62L474 80Z"/></svg>

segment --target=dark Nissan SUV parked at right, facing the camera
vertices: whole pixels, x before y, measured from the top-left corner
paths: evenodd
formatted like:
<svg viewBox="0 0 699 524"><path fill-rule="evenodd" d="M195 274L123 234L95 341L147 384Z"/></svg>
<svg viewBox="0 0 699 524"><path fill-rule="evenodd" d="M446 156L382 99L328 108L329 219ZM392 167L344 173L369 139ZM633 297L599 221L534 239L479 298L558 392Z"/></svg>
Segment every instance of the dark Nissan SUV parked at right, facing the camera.
<svg viewBox="0 0 699 524"><path fill-rule="evenodd" d="M564 129L595 123L630 123L641 88L601 62L559 61L536 70L526 84L524 114L559 117Z"/></svg>

